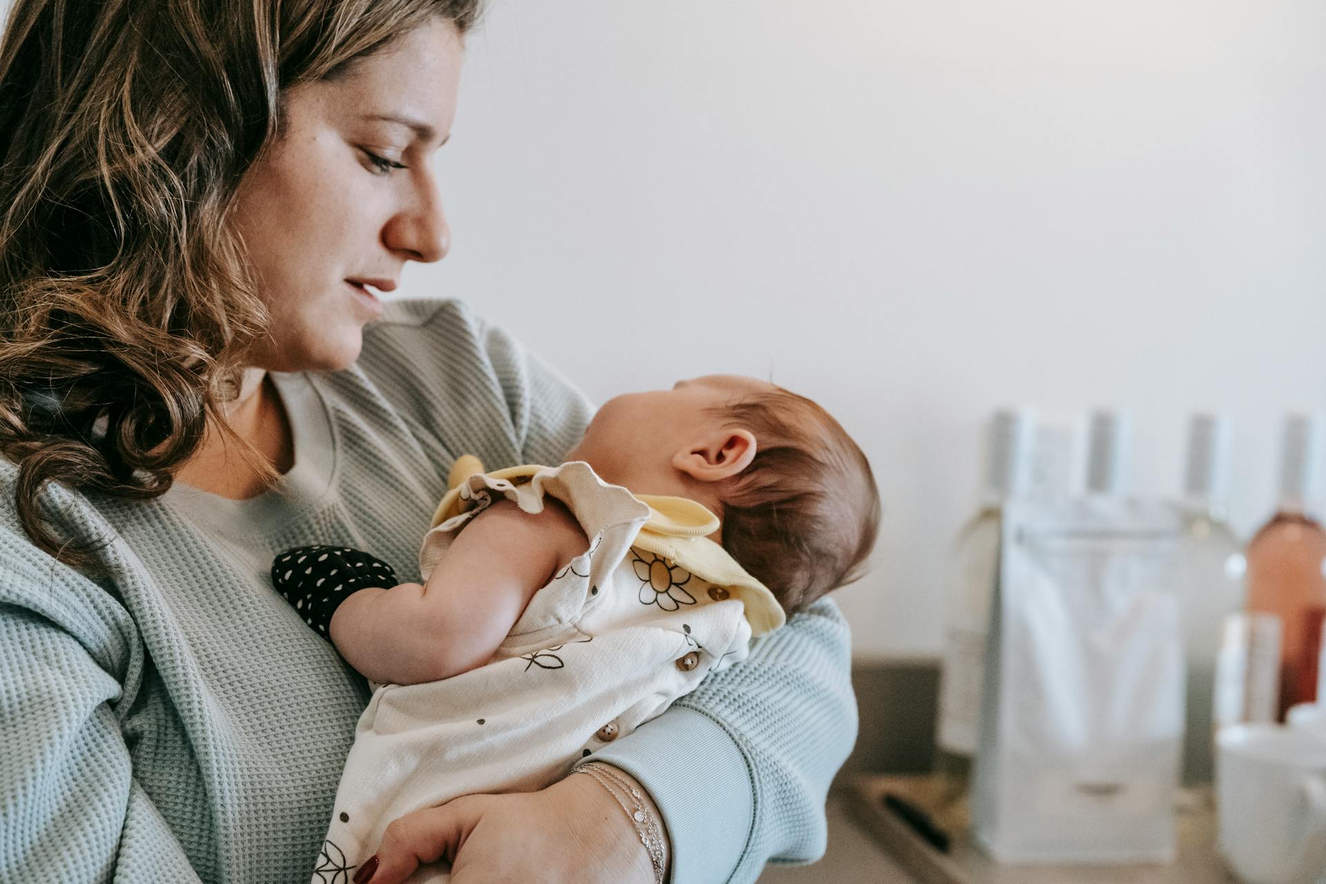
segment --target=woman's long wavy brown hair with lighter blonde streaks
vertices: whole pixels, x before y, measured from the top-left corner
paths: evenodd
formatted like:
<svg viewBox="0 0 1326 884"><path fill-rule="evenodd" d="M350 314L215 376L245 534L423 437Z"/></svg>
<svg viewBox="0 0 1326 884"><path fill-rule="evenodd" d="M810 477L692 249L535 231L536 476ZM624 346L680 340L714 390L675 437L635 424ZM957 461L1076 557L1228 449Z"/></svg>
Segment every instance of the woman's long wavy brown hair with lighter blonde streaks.
<svg viewBox="0 0 1326 884"><path fill-rule="evenodd" d="M164 493L268 317L227 224L281 102L480 0L17 0L0 40L0 453L41 550L48 482Z"/></svg>

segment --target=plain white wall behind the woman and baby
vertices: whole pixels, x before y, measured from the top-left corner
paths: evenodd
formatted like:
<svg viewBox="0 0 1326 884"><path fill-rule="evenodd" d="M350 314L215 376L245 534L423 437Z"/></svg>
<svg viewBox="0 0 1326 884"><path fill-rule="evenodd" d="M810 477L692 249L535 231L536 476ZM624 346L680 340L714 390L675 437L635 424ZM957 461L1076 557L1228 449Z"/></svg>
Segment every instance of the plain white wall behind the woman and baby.
<svg viewBox="0 0 1326 884"><path fill-rule="evenodd" d="M1132 410L1177 489L1236 421L1233 517L1326 396L1317 0L496 0L443 151L463 297L598 399L741 371L821 400L887 504L838 598L934 653L1000 404Z"/></svg>

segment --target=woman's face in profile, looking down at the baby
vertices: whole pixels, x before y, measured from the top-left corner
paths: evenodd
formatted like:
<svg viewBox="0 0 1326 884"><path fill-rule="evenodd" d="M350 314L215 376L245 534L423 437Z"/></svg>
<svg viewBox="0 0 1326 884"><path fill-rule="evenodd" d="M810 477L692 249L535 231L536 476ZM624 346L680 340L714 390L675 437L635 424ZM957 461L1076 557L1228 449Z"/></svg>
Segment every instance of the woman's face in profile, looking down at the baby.
<svg viewBox="0 0 1326 884"><path fill-rule="evenodd" d="M271 334L248 362L273 371L343 368L406 261L447 253L432 154L456 110L461 42L434 19L286 94L284 137L240 186L243 236Z"/></svg>

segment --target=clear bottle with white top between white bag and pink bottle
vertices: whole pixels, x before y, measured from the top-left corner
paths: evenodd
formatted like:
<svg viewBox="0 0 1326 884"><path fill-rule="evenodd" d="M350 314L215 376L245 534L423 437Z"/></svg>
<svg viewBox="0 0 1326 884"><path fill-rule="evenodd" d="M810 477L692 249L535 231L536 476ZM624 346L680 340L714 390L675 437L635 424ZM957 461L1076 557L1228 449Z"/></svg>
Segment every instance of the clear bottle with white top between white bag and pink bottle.
<svg viewBox="0 0 1326 884"><path fill-rule="evenodd" d="M1187 537L1176 591L1183 618L1187 701L1183 783L1212 779L1212 692L1225 618L1242 610L1248 562L1225 522L1229 477L1229 423L1209 414L1192 416L1184 470Z"/></svg>

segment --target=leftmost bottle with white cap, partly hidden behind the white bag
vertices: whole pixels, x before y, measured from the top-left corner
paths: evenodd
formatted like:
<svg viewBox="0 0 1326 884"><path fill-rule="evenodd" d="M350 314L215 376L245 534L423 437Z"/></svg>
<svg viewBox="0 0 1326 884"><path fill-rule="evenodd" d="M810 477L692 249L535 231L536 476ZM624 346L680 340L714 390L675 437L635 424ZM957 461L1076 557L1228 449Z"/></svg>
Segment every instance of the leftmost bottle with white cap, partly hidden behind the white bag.
<svg viewBox="0 0 1326 884"><path fill-rule="evenodd" d="M939 689L937 770L951 797L965 794L980 734L981 684L991 603L998 579L1004 502L1025 489L1030 411L998 411L991 420L981 505L957 535L948 590L948 628Z"/></svg>

